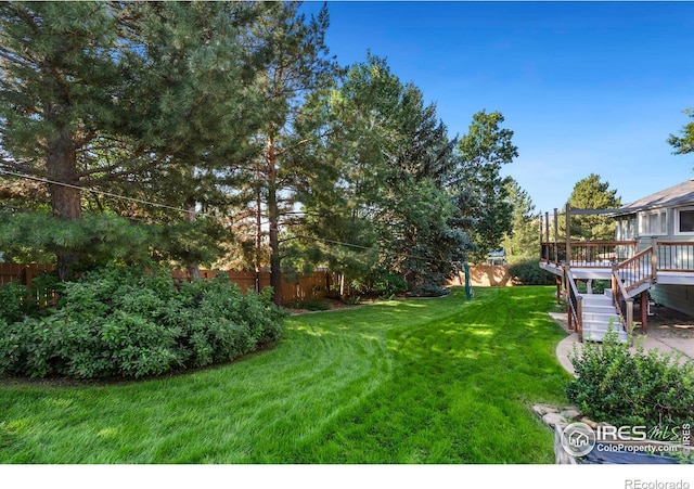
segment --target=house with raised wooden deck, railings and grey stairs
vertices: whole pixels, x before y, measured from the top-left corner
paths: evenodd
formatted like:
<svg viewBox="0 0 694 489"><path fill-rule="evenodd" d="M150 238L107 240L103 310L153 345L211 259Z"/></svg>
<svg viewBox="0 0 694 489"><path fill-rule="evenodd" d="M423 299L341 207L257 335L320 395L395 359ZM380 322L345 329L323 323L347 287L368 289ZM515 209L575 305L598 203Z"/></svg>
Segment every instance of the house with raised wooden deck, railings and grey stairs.
<svg viewBox="0 0 694 489"><path fill-rule="evenodd" d="M569 324L583 339L600 340L609 326L626 340L633 325L633 300L641 301L647 331L648 294L658 304L694 316L694 180L640 198L618 209L566 209L605 214L617 221L615 241L541 240L540 267L557 275L557 297L567 301ZM554 216L557 228L557 215ZM566 229L569 229L568 222ZM560 280L561 279L561 280ZM578 294L576 281L609 280L605 294Z"/></svg>

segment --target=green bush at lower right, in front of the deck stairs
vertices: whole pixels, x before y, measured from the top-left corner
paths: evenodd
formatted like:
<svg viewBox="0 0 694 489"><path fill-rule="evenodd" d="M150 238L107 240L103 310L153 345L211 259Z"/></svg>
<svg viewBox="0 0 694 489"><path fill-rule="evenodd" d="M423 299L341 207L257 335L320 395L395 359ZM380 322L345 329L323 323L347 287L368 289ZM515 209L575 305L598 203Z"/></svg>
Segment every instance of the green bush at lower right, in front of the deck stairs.
<svg viewBox="0 0 694 489"><path fill-rule="evenodd" d="M635 352L608 333L570 357L577 378L566 395L586 415L615 426L681 426L694 419L694 363L674 355Z"/></svg>

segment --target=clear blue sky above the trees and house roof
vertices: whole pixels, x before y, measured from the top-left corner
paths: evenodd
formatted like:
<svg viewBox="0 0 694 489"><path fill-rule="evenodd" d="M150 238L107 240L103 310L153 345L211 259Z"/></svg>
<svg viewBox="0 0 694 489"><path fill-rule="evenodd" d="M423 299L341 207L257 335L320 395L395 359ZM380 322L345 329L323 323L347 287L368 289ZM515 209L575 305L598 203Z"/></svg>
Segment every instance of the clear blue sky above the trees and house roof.
<svg viewBox="0 0 694 489"><path fill-rule="evenodd" d="M307 12L322 3L309 2ZM342 65L367 51L436 103L450 136L499 111L519 156L504 168L537 211L591 172L622 203L694 178L666 142L694 107L691 2L329 2Z"/></svg>

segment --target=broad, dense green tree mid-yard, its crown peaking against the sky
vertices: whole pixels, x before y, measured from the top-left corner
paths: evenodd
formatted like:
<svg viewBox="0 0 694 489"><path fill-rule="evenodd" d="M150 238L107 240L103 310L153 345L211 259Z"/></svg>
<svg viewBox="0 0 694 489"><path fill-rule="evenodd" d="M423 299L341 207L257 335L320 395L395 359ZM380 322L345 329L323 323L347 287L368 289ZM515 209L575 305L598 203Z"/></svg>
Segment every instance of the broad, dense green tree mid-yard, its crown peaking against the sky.
<svg viewBox="0 0 694 489"><path fill-rule="evenodd" d="M359 265L381 267L411 288L440 281L464 235L448 224L452 207L442 182L454 166L455 141L448 139L436 107L372 55L349 69L330 100L336 136L329 139L329 154L338 162L339 177L332 197L311 207L324 217L309 221L312 232L342 233L344 241L382 249L375 263L369 263L372 254L352 249L355 271ZM325 253L350 256L344 247Z"/></svg>

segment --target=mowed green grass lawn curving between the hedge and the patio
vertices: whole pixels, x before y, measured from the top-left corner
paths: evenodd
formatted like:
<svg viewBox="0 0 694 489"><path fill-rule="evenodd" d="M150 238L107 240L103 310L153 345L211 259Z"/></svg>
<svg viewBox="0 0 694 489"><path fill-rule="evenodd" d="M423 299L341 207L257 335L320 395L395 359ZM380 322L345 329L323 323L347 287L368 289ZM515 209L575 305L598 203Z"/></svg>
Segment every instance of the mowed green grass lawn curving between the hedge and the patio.
<svg viewBox="0 0 694 489"><path fill-rule="evenodd" d="M552 463L552 287L292 317L272 350L115 385L0 384L2 463Z"/></svg>

